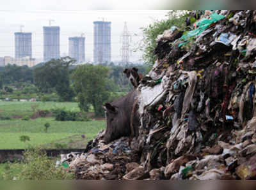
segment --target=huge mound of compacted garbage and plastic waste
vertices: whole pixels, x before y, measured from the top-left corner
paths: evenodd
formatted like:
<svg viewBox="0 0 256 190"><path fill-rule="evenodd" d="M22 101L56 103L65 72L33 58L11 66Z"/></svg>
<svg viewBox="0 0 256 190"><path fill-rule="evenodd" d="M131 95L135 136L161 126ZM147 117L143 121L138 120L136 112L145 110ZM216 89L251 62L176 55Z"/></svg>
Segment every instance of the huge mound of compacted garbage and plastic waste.
<svg viewBox="0 0 256 190"><path fill-rule="evenodd" d="M256 11L205 11L157 37L140 135L63 155L77 179L256 179ZM181 34L180 34L181 33Z"/></svg>

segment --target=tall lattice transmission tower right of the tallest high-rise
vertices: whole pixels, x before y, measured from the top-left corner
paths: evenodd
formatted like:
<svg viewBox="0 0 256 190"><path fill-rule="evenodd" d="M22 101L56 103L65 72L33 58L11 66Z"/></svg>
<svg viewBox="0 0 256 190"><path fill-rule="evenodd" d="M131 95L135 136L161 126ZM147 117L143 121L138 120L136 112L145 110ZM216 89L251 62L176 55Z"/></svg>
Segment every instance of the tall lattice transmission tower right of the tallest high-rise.
<svg viewBox="0 0 256 190"><path fill-rule="evenodd" d="M122 64L124 66L127 66L129 63L129 58L130 58L130 43L132 41L132 36L128 31L127 24L124 22L124 31L120 36L121 42L122 42L122 47L120 49L121 52L121 57L122 57Z"/></svg>

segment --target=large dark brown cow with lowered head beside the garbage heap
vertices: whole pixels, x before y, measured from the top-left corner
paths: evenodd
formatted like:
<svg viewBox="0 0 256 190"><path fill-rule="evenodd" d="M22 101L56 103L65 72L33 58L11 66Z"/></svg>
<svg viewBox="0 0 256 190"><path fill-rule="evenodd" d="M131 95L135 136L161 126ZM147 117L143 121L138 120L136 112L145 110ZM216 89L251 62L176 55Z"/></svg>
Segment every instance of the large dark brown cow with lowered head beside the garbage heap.
<svg viewBox="0 0 256 190"><path fill-rule="evenodd" d="M122 136L134 135L138 137L138 127L140 124L138 117L138 92L132 90L112 103L106 103L103 108L106 110L107 128L104 140L109 143Z"/></svg>

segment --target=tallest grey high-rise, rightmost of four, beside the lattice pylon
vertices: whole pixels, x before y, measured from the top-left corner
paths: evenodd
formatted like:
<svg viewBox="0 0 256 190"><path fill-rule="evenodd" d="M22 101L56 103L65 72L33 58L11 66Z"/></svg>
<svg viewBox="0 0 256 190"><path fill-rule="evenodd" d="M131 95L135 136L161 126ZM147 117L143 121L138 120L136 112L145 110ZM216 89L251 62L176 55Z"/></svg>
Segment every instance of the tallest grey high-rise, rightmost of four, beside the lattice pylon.
<svg viewBox="0 0 256 190"><path fill-rule="evenodd" d="M111 61L111 22L95 21L93 62L109 63Z"/></svg>

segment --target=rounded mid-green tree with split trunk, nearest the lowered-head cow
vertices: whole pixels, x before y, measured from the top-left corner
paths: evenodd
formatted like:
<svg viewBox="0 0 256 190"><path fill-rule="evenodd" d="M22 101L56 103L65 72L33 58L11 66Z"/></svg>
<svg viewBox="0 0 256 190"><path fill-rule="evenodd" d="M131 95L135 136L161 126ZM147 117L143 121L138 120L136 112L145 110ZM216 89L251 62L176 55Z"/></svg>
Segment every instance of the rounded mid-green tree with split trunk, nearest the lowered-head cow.
<svg viewBox="0 0 256 190"><path fill-rule="evenodd" d="M113 90L113 83L109 80L109 69L106 66L84 64L72 73L72 80L79 108L88 112L92 105L95 117L103 116L102 105Z"/></svg>

